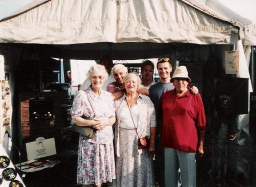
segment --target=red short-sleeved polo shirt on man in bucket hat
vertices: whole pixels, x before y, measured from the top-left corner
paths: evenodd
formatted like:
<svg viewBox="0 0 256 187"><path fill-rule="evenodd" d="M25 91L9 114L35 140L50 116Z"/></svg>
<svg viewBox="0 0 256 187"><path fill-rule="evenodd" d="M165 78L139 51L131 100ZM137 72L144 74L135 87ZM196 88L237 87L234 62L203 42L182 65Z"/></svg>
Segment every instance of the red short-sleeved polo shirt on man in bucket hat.
<svg viewBox="0 0 256 187"><path fill-rule="evenodd" d="M181 97L167 91L162 97L162 147L183 152L196 152L197 129L206 126L205 109L200 94L189 91Z"/></svg>

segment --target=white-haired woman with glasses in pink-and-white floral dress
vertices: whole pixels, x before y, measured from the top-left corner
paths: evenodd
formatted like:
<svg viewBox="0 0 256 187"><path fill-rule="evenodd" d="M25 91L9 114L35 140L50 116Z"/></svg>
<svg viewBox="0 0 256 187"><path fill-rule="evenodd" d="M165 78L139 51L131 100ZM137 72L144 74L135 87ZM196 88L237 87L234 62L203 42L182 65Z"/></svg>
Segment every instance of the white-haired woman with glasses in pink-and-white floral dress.
<svg viewBox="0 0 256 187"><path fill-rule="evenodd" d="M112 129L115 123L114 100L109 92L102 90L107 76L104 66L92 66L87 73L91 86L77 92L71 110L75 124L96 130L92 139L79 136L77 183L83 186L101 186L102 182L115 178Z"/></svg>

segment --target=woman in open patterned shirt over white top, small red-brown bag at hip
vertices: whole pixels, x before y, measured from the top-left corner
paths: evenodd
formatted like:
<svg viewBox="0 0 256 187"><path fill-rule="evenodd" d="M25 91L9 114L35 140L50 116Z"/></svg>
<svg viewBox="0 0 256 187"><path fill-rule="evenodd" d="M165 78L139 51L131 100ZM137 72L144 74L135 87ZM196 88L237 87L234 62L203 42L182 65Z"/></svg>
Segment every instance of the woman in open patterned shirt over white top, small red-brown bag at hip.
<svg viewBox="0 0 256 187"><path fill-rule="evenodd" d="M126 93L115 101L117 186L154 186L155 109L149 97L137 92L140 84L137 74L127 74L123 78ZM145 136L149 145L140 149L138 139Z"/></svg>

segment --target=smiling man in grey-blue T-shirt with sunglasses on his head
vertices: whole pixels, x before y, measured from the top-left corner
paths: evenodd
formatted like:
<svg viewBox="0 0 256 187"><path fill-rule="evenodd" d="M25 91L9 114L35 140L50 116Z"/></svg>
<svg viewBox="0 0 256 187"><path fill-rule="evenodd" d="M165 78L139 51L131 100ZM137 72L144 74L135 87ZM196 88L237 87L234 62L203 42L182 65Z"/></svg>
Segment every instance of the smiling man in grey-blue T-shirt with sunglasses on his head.
<svg viewBox="0 0 256 187"><path fill-rule="evenodd" d="M163 149L161 148L161 99L163 93L169 90L173 90L173 83L170 82L171 76L170 73L173 70L173 66L171 65L171 60L169 58L160 58L157 61L157 71L160 77L159 83L152 85L149 88L149 97L155 106L155 113L157 116L157 132L155 137L155 181L159 186L165 186L164 184L164 155ZM192 87L191 92L193 94L198 93L197 87ZM191 89L191 88L189 88Z"/></svg>

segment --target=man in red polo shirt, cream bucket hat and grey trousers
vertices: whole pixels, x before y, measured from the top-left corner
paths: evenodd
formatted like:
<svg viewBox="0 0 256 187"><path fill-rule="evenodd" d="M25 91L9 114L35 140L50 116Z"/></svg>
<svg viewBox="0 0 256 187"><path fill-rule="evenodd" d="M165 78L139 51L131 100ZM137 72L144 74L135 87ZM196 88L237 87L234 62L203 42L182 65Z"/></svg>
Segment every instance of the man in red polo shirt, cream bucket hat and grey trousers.
<svg viewBox="0 0 256 187"><path fill-rule="evenodd" d="M162 96L166 187L178 186L179 168L182 187L196 186L195 153L203 155L206 118L201 95L192 95L187 89L190 82L186 67L179 66L171 78L174 90Z"/></svg>

